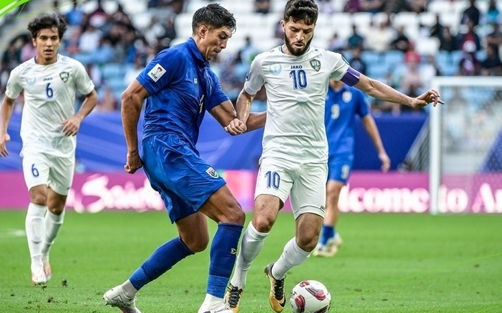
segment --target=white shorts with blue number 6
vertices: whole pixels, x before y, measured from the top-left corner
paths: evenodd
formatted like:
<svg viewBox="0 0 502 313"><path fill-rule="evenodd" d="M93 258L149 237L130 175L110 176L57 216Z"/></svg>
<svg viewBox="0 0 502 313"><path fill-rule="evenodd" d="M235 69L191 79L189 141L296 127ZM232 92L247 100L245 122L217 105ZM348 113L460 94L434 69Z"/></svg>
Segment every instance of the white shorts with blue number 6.
<svg viewBox="0 0 502 313"><path fill-rule="evenodd" d="M27 153L23 156L23 174L28 190L47 185L58 195L66 196L73 181L75 158L55 157L47 153Z"/></svg>

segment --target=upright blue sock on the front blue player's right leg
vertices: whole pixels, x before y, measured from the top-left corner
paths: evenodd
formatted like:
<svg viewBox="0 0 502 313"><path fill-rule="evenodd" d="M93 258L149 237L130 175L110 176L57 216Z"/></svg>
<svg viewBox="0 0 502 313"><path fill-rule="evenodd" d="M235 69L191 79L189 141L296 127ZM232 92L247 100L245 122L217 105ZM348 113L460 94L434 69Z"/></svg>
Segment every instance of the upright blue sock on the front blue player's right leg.
<svg viewBox="0 0 502 313"><path fill-rule="evenodd" d="M237 257L237 245L243 227L231 223L219 223L215 238L211 244L211 264L207 293L217 298L223 298L226 286L232 275Z"/></svg>

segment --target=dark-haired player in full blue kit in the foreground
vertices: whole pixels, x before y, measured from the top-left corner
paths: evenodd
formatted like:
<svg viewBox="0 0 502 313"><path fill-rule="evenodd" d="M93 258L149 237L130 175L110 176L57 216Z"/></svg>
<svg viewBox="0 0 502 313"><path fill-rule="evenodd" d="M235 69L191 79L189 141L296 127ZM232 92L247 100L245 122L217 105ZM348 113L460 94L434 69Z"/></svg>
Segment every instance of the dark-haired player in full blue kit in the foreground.
<svg viewBox="0 0 502 313"><path fill-rule="evenodd" d="M122 94L122 122L128 147L125 171L132 174L141 166L145 168L179 234L158 247L127 281L104 294L106 304L122 312L138 313L138 290L180 260L206 249L206 216L218 223L218 229L211 245L206 299L198 312L231 312L223 297L246 217L224 179L200 159L195 143L204 111L232 135L265 125L265 113L252 114L247 123L237 120L232 103L209 68L208 60L226 48L235 28L233 14L222 6L209 4L200 8L193 14L191 38L160 51ZM147 101L140 158L137 123L143 99Z"/></svg>

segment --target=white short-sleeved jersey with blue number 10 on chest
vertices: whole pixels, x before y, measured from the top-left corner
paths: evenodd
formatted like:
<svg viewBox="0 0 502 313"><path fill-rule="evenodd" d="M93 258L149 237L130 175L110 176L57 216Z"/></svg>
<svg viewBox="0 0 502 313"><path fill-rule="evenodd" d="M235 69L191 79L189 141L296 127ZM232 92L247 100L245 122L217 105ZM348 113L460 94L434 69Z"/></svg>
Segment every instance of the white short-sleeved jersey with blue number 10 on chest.
<svg viewBox="0 0 502 313"><path fill-rule="evenodd" d="M327 162L324 105L328 81L342 79L348 67L339 53L315 47L294 56L280 46L254 58L244 89L255 95L265 85L267 92L261 158Z"/></svg>

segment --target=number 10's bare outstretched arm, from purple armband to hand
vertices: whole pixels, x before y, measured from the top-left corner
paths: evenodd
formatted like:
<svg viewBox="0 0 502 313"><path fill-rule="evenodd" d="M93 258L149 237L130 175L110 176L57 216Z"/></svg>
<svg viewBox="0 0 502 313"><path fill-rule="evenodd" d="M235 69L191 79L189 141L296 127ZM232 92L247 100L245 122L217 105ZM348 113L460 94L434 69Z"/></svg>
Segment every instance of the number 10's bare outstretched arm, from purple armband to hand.
<svg viewBox="0 0 502 313"><path fill-rule="evenodd" d="M366 92L366 94L371 97L381 99L383 101L408 105L411 108L422 108L429 103L433 103L434 106L438 103L444 104L444 102L440 100L440 94L437 90L429 89L422 95L416 98L411 98L401 92L398 92L394 88L383 84L383 82L371 79L363 74L360 75L359 82L357 82L354 86L359 90Z"/></svg>

